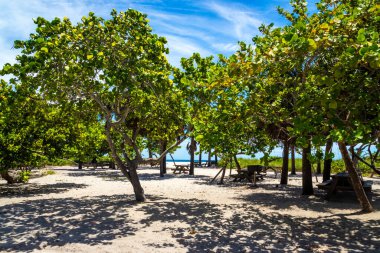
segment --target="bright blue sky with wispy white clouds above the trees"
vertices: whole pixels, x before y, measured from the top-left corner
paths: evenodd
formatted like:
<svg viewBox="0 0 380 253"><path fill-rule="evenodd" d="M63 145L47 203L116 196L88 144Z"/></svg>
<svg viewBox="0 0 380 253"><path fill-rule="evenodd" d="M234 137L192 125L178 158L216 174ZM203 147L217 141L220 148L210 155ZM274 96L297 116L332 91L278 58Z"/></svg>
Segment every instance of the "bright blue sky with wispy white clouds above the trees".
<svg viewBox="0 0 380 253"><path fill-rule="evenodd" d="M35 29L32 19L38 16L66 16L77 22L90 11L107 18L113 8L136 9L148 15L154 33L167 38L169 61L179 66L181 57L194 52L202 56L234 53L238 41L250 43L259 34L261 24L284 25L277 6L290 8L288 0L0 0L0 66L14 62L18 52L12 48L13 41L27 39ZM310 7L315 10L314 4ZM281 155L281 150L276 149L274 155ZM175 158L188 159L185 148Z"/></svg>

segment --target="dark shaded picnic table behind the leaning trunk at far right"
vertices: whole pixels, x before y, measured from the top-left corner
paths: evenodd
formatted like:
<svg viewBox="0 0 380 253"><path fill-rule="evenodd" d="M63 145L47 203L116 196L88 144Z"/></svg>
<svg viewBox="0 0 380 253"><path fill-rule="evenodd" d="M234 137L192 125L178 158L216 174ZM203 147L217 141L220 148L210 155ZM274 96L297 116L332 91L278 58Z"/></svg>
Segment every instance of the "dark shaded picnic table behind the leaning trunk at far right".
<svg viewBox="0 0 380 253"><path fill-rule="evenodd" d="M354 188L351 183L351 178L347 172L337 173L336 175L331 176L332 179L326 180L323 183L317 185L319 189L327 191L326 199L338 191L354 191ZM364 191L370 193L372 191L373 181L362 181Z"/></svg>

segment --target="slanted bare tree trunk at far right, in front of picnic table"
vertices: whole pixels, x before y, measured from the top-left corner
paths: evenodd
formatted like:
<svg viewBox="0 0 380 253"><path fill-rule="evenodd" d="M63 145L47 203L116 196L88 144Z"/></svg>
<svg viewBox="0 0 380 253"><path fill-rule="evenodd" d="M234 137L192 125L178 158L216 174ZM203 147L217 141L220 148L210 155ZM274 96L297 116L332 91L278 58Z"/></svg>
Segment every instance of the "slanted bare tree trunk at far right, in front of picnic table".
<svg viewBox="0 0 380 253"><path fill-rule="evenodd" d="M358 172L356 171L354 167L354 163L352 162L352 159L347 151L347 147L345 143L340 141L338 142L338 145L339 145L340 153L342 154L342 159L344 161L344 164L346 165L348 174L350 175L352 186L356 193L356 197L358 198L360 202L360 206L362 207L362 210L364 212L374 211L371 203L369 202L367 198L367 195L364 192L363 185L359 178Z"/></svg>

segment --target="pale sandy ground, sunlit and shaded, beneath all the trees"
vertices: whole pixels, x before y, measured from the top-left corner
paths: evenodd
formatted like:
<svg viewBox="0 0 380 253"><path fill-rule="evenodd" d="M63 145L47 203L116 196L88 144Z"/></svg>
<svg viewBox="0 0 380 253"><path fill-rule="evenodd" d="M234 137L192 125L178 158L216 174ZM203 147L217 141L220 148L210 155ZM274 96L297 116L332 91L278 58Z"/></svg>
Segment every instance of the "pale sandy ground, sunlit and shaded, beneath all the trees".
<svg viewBox="0 0 380 253"><path fill-rule="evenodd" d="M148 201L137 204L118 171L52 169L21 188L0 183L1 252L380 252L379 211L360 213L350 193L301 196L299 176L252 188L210 185L218 169L141 168Z"/></svg>

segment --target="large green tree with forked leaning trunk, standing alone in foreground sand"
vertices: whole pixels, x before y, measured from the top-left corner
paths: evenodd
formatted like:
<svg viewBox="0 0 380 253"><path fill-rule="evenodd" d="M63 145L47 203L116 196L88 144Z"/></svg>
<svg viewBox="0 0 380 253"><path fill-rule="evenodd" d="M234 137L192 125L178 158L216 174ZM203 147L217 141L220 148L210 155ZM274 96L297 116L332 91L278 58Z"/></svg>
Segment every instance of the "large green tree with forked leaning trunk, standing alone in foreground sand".
<svg viewBox="0 0 380 253"><path fill-rule="evenodd" d="M22 52L4 72L46 99L91 105L112 158L131 181L136 200L144 201L136 171L149 163L141 155L143 138L172 142L183 132L184 105L169 79L165 38L152 34L146 15L132 9L113 10L109 20L90 13L76 25L68 18L40 17L35 23L29 40L15 42Z"/></svg>

